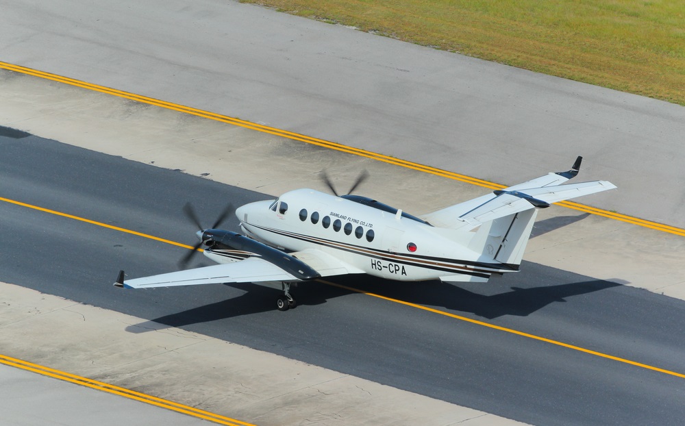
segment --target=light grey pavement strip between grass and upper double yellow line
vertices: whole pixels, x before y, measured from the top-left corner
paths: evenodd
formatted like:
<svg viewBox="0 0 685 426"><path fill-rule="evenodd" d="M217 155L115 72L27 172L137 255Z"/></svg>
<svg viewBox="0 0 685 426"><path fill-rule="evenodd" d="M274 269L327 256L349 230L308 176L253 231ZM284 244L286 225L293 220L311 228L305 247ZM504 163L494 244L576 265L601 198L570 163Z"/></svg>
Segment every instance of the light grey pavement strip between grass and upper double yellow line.
<svg viewBox="0 0 685 426"><path fill-rule="evenodd" d="M0 1L5 62L685 227L685 108L227 0ZM50 137L49 135L45 135Z"/></svg>

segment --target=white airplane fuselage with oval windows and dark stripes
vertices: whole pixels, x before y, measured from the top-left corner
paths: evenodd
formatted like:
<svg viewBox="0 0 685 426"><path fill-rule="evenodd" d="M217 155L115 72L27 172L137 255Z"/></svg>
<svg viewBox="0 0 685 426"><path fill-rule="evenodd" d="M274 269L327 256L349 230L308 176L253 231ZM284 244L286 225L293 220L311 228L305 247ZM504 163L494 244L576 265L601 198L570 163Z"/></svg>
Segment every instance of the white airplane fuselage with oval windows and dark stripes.
<svg viewBox="0 0 685 426"><path fill-rule="evenodd" d="M473 233L433 227L393 210L299 189L277 200L243 205L236 214L245 234L266 245L284 251L318 249L376 277L487 281L492 273L512 271L469 250Z"/></svg>

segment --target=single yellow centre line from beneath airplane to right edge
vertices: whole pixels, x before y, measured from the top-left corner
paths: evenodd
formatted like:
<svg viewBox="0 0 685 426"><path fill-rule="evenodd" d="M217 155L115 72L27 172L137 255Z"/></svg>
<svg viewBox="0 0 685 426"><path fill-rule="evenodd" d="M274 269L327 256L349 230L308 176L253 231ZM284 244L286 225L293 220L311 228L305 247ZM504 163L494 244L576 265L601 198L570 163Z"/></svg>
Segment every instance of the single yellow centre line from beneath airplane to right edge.
<svg viewBox="0 0 685 426"><path fill-rule="evenodd" d="M393 299L393 298L391 298L391 297L385 297L385 296L382 296L382 295L376 295L375 293L366 292L366 291L364 291L364 290L359 290L358 288L343 286L342 284L336 284L336 283L333 283L333 282L330 282L330 281L325 281L325 280L323 280L323 279L317 279L316 281L319 281L319 282L321 282L321 283L323 283L323 284L327 284L327 285L329 285L329 286L334 286L334 287L338 287L338 288L344 288L345 290L349 290L349 291L353 291L353 292L358 292L358 293L361 293L362 295L367 295L367 296L371 296L371 297L377 297L378 299L384 299L384 300L386 300L386 301L390 301L390 302L394 302L394 303L399 303L399 304L401 304L401 305L411 306L412 308L424 310L424 311L427 311L427 312L432 312L432 313L434 313L434 314L443 315L443 316L449 316L450 318L455 318L455 319L458 319L458 320L460 320L460 321L466 321L466 323L472 323L472 324L476 324L476 325L482 325L483 327L488 327L488 328L496 329L496 330L499 330L499 331L505 331L506 333L516 334L517 336L523 336L523 337L530 338L530 339L534 339L534 340L540 340L540 342L547 342L547 343L551 343L551 344L556 344L557 346L565 347L565 348L568 348L568 349L573 349L574 351L580 351L580 352L584 352L584 353L589 353L590 355L595 355L595 356L598 356L598 357L601 357L601 358L606 358L606 359L608 359L608 360L623 362L623 363L625 363L625 364L630 364L630 365L633 365L633 366L638 366L638 367L640 367L640 368L646 368L647 370L658 371L659 373L664 373L664 374L667 374L667 375L672 375L672 376L675 376L675 377L681 377L681 378L685 379L685 374L676 373L675 371L670 371L670 370L664 370L664 368L658 368L658 367L651 366L651 365L648 365L648 364L643 364L643 363L641 363L641 362L635 362L635 361L631 361L631 360L626 360L625 358L619 358L619 357L616 357L616 356L614 356L614 355L608 355L608 354L606 354L606 353L601 353L601 352L593 351L593 350L590 350L590 349L585 349L585 348L582 348L582 347L579 347L579 346L574 346L573 344L568 344L568 343L560 342L560 341L558 341L558 340L551 340L551 339L548 339L548 338L545 338L545 337L536 336L536 335L534 335L534 334L525 333L525 332L523 332L523 331L518 331L518 330L510 329L510 328L507 328L507 327L501 327L501 326L499 326L499 325L494 325L494 324L490 324L490 323L485 323L485 322L483 322L483 321L478 321L478 320L475 320L475 319L472 319L472 318L467 318L466 316L461 316L461 315L456 315L456 314L450 314L449 312L445 312L445 311L441 311L441 310L437 310L437 309L433 309L433 308L428 308L427 306L417 305L416 303L410 303L410 302L406 302L406 301L401 301L401 300L399 300L399 299Z"/></svg>

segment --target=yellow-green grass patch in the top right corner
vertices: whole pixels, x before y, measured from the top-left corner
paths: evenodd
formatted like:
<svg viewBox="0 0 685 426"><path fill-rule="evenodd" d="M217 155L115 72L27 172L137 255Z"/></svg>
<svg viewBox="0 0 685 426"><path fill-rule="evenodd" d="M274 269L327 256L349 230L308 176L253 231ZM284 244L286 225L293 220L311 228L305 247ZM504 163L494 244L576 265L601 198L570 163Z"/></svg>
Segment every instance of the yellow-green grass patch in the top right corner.
<svg viewBox="0 0 685 426"><path fill-rule="evenodd" d="M684 0L243 0L685 105Z"/></svg>

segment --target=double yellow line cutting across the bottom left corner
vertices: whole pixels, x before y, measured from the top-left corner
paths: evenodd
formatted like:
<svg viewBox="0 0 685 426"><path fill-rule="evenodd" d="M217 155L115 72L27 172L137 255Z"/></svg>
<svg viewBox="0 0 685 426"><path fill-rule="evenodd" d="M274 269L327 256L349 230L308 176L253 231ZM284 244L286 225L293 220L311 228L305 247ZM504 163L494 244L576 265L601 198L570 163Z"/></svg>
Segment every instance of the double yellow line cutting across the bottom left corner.
<svg viewBox="0 0 685 426"><path fill-rule="evenodd" d="M0 364L21 368L25 371L32 371L34 373L38 373L48 377L53 377L55 379L60 379L63 381L69 381L71 383L86 386L88 388L102 390L103 392L120 395L121 397L134 399L136 401L140 401L150 405L156 405L157 407L166 408L167 410L173 410L175 412L183 414L188 414L189 416L197 418L202 418L203 420L218 423L219 425L254 426L251 423L246 423L243 421L236 420L234 418L221 416L221 414L214 414L205 410L200 410L199 408L193 408L188 405L175 403L173 401L167 401L166 399L153 397L151 395L136 392L134 390L129 390L126 388L121 388L119 386L103 383L102 381L88 379L86 377L77 376L71 373L65 373L64 371L55 370L55 368L49 368L46 366L33 364L32 362L18 360L17 358L8 357L7 355L0 355Z"/></svg>

